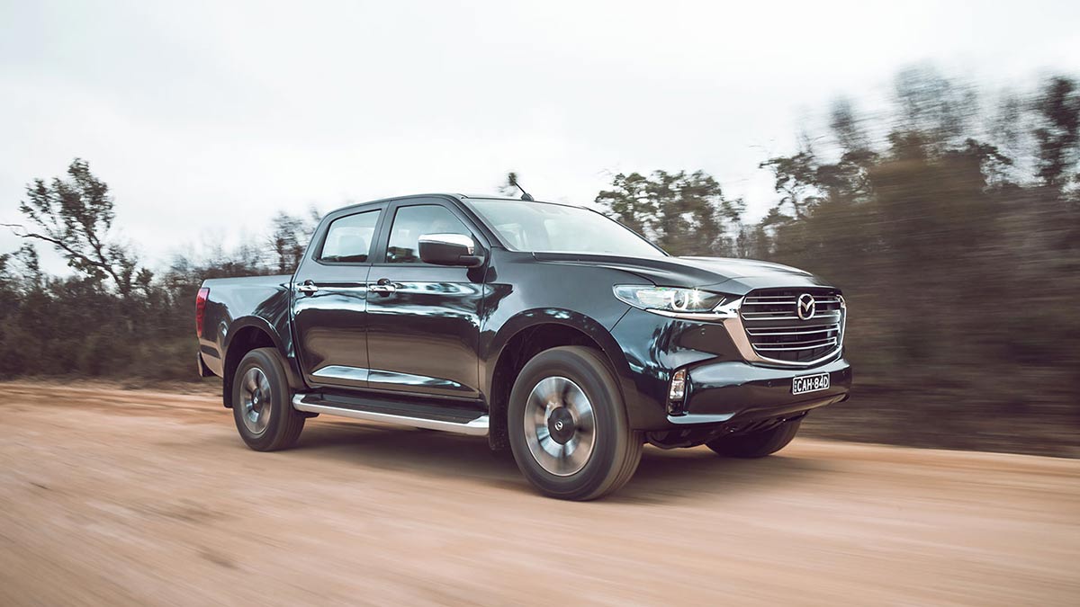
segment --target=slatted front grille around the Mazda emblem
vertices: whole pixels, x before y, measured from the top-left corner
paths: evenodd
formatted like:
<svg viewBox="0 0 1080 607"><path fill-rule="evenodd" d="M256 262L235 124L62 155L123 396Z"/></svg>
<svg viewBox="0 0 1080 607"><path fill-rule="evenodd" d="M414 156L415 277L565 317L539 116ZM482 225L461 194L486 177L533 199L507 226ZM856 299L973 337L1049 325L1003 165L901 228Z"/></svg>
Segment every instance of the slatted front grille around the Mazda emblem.
<svg viewBox="0 0 1080 607"><path fill-rule="evenodd" d="M799 298L813 297L813 315ZM832 288L768 288L751 292L739 310L746 337L758 356L785 363L812 363L843 343L843 298Z"/></svg>

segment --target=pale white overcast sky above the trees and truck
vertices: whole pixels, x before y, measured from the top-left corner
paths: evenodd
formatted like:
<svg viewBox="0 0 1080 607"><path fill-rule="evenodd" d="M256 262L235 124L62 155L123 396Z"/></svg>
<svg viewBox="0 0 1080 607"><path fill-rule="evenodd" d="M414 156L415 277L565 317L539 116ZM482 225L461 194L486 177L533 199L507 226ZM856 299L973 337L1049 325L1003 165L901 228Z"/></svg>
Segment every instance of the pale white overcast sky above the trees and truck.
<svg viewBox="0 0 1080 607"><path fill-rule="evenodd" d="M583 203L701 168L760 214L761 160L923 62L991 89L1080 73L1080 2L0 0L0 221L75 157L154 264L511 170Z"/></svg>

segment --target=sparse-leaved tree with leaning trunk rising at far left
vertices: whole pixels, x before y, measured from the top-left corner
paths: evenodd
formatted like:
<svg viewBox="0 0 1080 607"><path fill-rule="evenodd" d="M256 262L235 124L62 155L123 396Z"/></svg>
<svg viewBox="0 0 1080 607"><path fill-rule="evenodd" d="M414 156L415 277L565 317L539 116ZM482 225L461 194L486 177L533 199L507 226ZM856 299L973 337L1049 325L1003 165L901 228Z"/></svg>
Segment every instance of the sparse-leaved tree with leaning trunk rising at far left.
<svg viewBox="0 0 1080 607"><path fill-rule="evenodd" d="M139 270L135 255L110 238L116 213L105 181L78 158L67 175L67 179L56 177L48 185L44 179L35 179L26 187L27 198L18 210L36 228L18 235L52 244L69 267L97 281L111 280L126 298L135 285L149 284L152 274Z"/></svg>

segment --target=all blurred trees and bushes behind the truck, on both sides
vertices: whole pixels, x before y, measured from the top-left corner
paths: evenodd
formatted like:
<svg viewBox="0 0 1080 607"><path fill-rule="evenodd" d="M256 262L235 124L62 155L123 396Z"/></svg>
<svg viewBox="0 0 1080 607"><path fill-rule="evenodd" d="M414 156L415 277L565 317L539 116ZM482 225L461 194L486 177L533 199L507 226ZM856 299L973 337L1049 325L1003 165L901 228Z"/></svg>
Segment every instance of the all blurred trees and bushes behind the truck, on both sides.
<svg viewBox="0 0 1080 607"><path fill-rule="evenodd" d="M932 69L901 72L888 111L847 102L769 158L775 205L747 221L711 175L613 176L596 202L674 255L770 259L843 288L853 399L819 435L1080 456L1080 90L1069 78L990 97ZM516 175L500 189L516 195ZM0 376L193 378L203 279L291 273L319 216L157 275L110 238L105 183L76 160L35 180L27 238L0 255ZM41 271L30 243L75 270Z"/></svg>

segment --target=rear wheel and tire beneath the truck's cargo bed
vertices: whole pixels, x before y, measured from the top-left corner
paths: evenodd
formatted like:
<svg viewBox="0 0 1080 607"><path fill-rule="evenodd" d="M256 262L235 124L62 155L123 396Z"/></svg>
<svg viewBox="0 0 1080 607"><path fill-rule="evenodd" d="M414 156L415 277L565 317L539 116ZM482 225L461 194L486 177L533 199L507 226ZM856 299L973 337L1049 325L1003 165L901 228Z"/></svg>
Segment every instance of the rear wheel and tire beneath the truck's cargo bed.
<svg viewBox="0 0 1080 607"><path fill-rule="evenodd" d="M248 447L275 451L296 444L305 416L293 408L292 395L276 350L258 348L244 355L232 379L232 418Z"/></svg>

